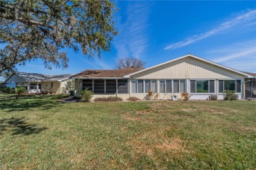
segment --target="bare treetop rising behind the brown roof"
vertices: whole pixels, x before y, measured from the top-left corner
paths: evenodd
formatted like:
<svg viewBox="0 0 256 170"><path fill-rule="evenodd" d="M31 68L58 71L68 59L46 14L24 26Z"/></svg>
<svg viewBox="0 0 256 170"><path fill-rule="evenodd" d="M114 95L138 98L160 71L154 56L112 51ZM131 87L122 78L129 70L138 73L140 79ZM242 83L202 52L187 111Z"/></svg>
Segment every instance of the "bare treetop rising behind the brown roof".
<svg viewBox="0 0 256 170"><path fill-rule="evenodd" d="M137 58L120 58L116 63L117 69L143 69L145 62Z"/></svg>

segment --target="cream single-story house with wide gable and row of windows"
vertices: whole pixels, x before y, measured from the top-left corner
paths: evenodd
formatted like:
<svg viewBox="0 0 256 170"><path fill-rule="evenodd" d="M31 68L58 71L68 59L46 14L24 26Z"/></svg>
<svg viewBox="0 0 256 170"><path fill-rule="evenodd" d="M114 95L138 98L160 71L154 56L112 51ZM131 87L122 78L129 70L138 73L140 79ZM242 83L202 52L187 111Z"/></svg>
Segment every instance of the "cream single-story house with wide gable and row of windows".
<svg viewBox="0 0 256 170"><path fill-rule="evenodd" d="M182 92L191 93L191 99L209 99L210 94L223 99L224 90L235 90L242 99L243 82L253 76L188 54L147 69L85 70L70 78L75 80L75 95L88 88L95 93L93 99L148 99L148 90L159 93L158 99L180 98Z"/></svg>

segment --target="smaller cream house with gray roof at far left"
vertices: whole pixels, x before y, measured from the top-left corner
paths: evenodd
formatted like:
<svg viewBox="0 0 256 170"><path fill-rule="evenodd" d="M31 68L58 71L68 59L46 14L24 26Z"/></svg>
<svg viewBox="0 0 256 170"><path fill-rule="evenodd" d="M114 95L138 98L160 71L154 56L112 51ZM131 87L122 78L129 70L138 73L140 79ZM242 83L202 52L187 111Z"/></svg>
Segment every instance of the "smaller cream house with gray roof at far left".
<svg viewBox="0 0 256 170"><path fill-rule="evenodd" d="M5 80L6 86L15 88L16 86L25 86L28 93L41 93L47 91L49 93L64 93L66 83L70 80L68 75L42 75L37 73L12 73Z"/></svg>

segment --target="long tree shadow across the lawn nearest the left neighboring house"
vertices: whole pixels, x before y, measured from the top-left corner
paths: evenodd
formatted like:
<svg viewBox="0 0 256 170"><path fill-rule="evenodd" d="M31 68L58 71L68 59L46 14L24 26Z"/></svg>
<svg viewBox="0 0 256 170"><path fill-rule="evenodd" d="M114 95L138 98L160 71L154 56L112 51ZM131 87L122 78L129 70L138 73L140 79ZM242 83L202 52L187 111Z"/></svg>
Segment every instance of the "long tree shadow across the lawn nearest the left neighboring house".
<svg viewBox="0 0 256 170"><path fill-rule="evenodd" d="M58 96L44 96L44 95L32 95L18 97L16 95L9 96L8 98L1 98L0 109L7 112L22 111L30 109L47 110L53 107L59 107L61 103L58 103L56 99L62 97Z"/></svg>

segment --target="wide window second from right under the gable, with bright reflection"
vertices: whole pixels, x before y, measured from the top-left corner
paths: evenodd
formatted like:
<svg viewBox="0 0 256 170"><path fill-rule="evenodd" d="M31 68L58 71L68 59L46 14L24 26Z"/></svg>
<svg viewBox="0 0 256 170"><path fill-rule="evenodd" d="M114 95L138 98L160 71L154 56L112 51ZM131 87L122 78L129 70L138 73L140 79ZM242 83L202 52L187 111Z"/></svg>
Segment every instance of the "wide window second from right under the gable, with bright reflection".
<svg viewBox="0 0 256 170"><path fill-rule="evenodd" d="M215 93L215 80L190 80L190 93Z"/></svg>

